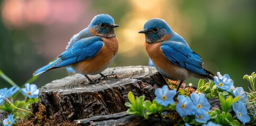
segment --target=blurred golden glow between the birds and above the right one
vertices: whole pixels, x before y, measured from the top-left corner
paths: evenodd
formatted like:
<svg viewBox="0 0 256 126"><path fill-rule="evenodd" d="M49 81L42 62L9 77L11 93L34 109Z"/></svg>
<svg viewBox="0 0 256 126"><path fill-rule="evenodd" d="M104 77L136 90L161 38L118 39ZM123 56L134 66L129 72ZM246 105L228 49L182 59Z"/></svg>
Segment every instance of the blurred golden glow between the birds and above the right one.
<svg viewBox="0 0 256 126"><path fill-rule="evenodd" d="M121 29L117 30L119 38L119 55L135 57L136 55L147 55L144 49L145 35L138 34L144 24L150 18L162 18L178 34L188 39L189 23L185 17L179 15L175 2L160 1L136 1L130 0L132 9L120 20ZM168 7L165 7L167 6ZM181 20L184 19L184 20ZM189 42L189 41L188 41Z"/></svg>

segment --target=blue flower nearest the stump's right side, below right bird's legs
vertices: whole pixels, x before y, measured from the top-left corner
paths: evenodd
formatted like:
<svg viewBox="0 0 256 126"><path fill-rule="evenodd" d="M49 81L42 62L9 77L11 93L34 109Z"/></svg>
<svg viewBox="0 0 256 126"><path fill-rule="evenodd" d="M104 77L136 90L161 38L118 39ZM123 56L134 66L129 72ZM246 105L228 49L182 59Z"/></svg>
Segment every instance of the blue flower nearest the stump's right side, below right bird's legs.
<svg viewBox="0 0 256 126"><path fill-rule="evenodd" d="M167 107L168 104L173 104L173 98L176 95L175 90L169 90L168 86L165 85L162 88L157 88L155 91L156 102L161 104L162 106Z"/></svg>

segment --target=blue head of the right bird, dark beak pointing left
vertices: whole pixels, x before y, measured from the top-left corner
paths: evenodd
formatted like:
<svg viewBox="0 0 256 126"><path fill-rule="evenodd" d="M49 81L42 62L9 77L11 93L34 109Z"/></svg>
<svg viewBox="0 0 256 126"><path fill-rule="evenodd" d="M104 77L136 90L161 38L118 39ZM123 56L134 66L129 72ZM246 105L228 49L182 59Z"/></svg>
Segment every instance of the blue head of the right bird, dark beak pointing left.
<svg viewBox="0 0 256 126"><path fill-rule="evenodd" d="M145 23L144 29L139 31L139 33L145 34L147 43L162 41L165 35L170 35L172 32L165 20L160 18L149 19Z"/></svg>

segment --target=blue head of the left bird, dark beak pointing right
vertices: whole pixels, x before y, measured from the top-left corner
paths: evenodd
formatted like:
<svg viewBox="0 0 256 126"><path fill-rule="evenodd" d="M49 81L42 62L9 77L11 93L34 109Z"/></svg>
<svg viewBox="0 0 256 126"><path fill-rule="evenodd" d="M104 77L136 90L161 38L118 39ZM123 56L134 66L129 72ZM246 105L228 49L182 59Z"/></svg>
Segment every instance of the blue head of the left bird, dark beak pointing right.
<svg viewBox="0 0 256 126"><path fill-rule="evenodd" d="M93 29L91 32L96 32L94 34L97 36L111 38L116 36L113 28L119 27L119 25L115 24L114 19L110 15L99 14L91 20L88 27L89 29Z"/></svg>

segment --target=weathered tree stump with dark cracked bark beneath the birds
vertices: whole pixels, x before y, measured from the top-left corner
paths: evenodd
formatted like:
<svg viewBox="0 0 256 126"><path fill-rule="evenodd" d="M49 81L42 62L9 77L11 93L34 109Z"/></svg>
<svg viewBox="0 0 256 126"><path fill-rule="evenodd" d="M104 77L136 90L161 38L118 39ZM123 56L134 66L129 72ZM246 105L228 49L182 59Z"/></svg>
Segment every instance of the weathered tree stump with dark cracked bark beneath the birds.
<svg viewBox="0 0 256 126"><path fill-rule="evenodd" d="M54 80L41 88L39 103L46 106L48 116L58 112L63 119L73 121L124 112L129 91L153 100L154 88L166 85L154 67L128 66L103 71L103 74L110 73L116 76L101 79L96 84L88 84L81 74ZM94 80L100 75L89 77Z"/></svg>

